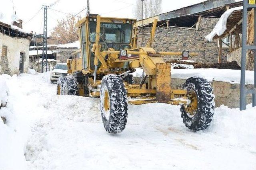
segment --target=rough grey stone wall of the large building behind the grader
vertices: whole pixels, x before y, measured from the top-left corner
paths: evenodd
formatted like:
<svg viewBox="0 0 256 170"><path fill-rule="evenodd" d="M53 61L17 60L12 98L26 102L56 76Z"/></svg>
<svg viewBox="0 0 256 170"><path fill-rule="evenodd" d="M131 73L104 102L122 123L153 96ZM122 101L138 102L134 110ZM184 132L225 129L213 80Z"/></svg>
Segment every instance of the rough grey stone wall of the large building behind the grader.
<svg viewBox="0 0 256 170"><path fill-rule="evenodd" d="M200 20L198 30L180 27L158 27L152 47L156 51L190 51L197 52L198 56L191 60L203 63L218 63L218 42L208 42L204 37L208 35L218 22L218 18L204 18ZM148 42L151 28L144 28L144 41L142 42L142 29L138 29L138 47ZM223 51L222 61L226 62L228 48ZM180 59L181 56L166 56L166 60Z"/></svg>

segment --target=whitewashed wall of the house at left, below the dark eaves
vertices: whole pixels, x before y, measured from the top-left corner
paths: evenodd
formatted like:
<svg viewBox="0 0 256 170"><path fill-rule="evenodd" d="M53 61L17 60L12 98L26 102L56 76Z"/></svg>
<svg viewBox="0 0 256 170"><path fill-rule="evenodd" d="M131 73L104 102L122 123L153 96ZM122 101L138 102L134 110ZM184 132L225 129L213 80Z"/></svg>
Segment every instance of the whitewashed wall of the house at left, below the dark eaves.
<svg viewBox="0 0 256 170"><path fill-rule="evenodd" d="M20 53L24 53L23 72L28 70L29 39L10 37L0 33L0 74L18 74L20 70ZM2 56L2 46L7 46L7 56Z"/></svg>

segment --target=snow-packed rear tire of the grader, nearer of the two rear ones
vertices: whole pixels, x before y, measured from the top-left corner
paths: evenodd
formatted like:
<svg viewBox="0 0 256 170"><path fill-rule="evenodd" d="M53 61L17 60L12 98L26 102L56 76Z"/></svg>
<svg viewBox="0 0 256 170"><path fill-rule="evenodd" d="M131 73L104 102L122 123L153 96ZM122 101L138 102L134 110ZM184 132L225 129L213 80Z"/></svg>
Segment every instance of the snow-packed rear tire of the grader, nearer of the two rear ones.
<svg viewBox="0 0 256 170"><path fill-rule="evenodd" d="M62 95L79 96L78 82L76 78L74 77L65 78Z"/></svg>

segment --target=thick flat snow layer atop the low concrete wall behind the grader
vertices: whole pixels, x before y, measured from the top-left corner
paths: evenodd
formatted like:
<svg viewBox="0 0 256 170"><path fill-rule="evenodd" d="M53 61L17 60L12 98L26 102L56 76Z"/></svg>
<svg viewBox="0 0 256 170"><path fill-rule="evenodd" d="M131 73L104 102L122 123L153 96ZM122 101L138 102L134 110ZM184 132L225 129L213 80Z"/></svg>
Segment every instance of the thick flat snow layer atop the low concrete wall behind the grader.
<svg viewBox="0 0 256 170"><path fill-rule="evenodd" d="M193 76L206 78L208 81L222 81L231 84L240 84L241 70L218 68L173 69L172 78L187 79ZM246 70L246 84L254 84L254 71Z"/></svg>

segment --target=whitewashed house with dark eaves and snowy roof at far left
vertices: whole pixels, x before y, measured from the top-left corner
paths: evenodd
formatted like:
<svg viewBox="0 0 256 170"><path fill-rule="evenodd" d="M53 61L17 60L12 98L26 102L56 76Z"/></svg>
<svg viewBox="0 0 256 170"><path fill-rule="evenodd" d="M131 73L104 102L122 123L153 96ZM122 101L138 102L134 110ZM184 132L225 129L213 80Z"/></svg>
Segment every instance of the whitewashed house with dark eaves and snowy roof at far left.
<svg viewBox="0 0 256 170"><path fill-rule="evenodd" d="M9 25L0 21L0 74L13 75L28 70L29 44L33 34L18 27L22 25L22 21L19 22Z"/></svg>

